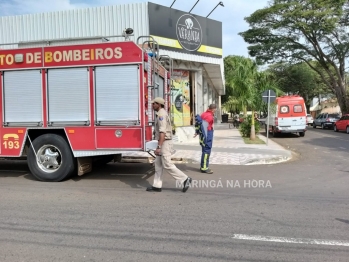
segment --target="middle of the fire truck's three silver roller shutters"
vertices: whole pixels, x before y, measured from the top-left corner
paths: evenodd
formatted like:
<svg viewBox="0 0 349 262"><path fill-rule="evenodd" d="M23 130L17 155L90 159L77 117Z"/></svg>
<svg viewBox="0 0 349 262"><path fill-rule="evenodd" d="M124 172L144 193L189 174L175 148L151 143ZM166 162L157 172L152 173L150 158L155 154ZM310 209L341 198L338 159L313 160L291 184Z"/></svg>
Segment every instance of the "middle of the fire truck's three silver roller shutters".
<svg viewBox="0 0 349 262"><path fill-rule="evenodd" d="M86 67L48 69L48 118L51 125L89 123L88 73Z"/></svg>

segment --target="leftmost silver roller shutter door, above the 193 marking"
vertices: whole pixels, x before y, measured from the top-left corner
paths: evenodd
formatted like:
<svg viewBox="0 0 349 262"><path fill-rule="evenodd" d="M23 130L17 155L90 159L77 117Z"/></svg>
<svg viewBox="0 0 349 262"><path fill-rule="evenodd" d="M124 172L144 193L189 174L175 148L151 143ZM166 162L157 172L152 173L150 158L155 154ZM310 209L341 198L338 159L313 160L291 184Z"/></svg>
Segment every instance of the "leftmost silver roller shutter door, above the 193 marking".
<svg viewBox="0 0 349 262"><path fill-rule="evenodd" d="M40 70L4 72L4 122L6 122L9 126L41 125L41 77Z"/></svg>

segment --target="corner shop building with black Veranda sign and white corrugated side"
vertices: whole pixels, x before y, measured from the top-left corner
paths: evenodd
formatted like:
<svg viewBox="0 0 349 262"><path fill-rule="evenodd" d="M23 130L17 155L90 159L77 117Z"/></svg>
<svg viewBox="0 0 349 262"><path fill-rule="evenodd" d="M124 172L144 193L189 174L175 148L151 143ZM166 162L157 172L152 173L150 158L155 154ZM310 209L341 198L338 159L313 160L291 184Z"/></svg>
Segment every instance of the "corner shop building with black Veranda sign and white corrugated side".
<svg viewBox="0 0 349 262"><path fill-rule="evenodd" d="M192 126L212 103L220 120L222 23L212 19L150 2L0 17L0 49L123 41L126 28L128 40L155 40L159 55L172 59L171 93L156 95L170 96L175 126Z"/></svg>

